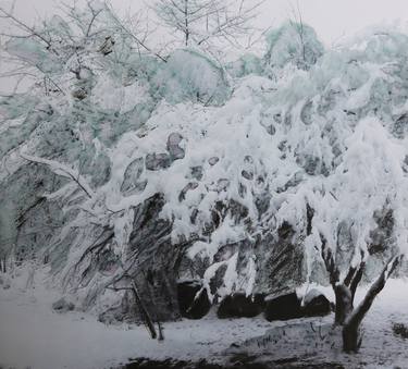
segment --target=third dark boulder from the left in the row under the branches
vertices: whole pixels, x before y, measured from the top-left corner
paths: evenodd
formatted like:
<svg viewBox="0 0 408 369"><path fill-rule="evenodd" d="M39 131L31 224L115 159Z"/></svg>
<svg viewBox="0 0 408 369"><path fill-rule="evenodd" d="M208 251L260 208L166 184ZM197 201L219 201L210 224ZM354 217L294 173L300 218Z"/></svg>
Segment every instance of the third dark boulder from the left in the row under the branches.
<svg viewBox="0 0 408 369"><path fill-rule="evenodd" d="M289 292L265 302L264 317L268 321L289 320L302 317L296 292Z"/></svg>

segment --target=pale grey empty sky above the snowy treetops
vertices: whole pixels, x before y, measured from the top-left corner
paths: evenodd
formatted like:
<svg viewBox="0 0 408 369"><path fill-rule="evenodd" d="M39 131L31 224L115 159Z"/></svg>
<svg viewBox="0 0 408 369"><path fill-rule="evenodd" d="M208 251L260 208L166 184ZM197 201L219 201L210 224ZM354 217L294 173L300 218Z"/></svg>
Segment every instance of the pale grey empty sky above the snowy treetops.
<svg viewBox="0 0 408 369"><path fill-rule="evenodd" d="M51 14L59 0L16 0L16 13L25 20ZM81 3L82 0L77 2ZM251 1L251 0L249 0ZM254 0L256 1L256 0ZM0 3L8 3L0 0ZM73 0L65 0L73 2ZM148 0L112 0L115 9L138 9ZM314 27L319 37L331 45L343 36L351 36L372 24L399 21L408 23L408 0L298 0L306 23ZM267 0L262 5L259 25L279 25L290 15L296 0ZM1 22L1 20L0 20Z"/></svg>

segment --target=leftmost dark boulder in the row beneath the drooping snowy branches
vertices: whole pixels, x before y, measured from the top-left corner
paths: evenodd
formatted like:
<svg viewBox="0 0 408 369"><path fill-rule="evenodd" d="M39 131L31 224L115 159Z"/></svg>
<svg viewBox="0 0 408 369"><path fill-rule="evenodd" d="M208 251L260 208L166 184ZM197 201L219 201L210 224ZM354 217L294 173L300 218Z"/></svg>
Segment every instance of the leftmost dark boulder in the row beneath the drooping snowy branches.
<svg viewBox="0 0 408 369"><path fill-rule="evenodd" d="M195 298L201 290L198 282L182 282L177 284L178 307L183 317L188 319L201 319L211 308L206 291Z"/></svg>

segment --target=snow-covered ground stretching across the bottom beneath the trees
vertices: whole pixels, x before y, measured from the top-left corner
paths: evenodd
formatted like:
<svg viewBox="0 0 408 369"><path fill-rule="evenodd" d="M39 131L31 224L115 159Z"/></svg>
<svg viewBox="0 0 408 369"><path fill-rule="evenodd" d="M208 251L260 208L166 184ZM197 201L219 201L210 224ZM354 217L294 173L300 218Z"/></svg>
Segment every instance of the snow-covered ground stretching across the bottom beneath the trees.
<svg viewBox="0 0 408 369"><path fill-rule="evenodd" d="M35 288L28 291L24 273L11 280L10 288L0 286L0 368L101 369L136 357L197 360L237 353L262 361L299 358L302 362L339 362L345 368L408 368L408 340L392 332L392 322L408 324L408 284L404 281L388 281L366 319L361 353L348 356L330 345L313 348L296 328L305 321L314 327L330 323L332 317L269 323L262 318L217 320L212 316L165 324L165 340L159 343L149 340L144 327L107 327L79 311L53 312L51 305L60 295L44 287L44 275L37 271ZM265 332L279 327L286 327L285 340L265 340L275 334ZM228 349L233 343L238 347Z"/></svg>

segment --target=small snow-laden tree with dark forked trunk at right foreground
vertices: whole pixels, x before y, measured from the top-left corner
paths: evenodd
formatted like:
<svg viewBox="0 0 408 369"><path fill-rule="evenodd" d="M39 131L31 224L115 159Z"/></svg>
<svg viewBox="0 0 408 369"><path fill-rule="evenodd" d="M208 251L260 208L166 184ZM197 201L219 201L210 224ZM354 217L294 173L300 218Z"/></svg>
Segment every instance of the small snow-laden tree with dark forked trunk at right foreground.
<svg viewBox="0 0 408 369"><path fill-rule="evenodd" d="M295 201L306 201L305 245L310 255L313 248L320 250L329 272L335 294L335 322L344 327L344 349L357 352L359 325L406 253L408 177L404 170L405 149L375 118L359 122L346 145L342 163L327 181L304 193L304 200ZM356 290L373 254L379 212L391 213L393 220L391 235L380 239L388 259L355 307Z"/></svg>

